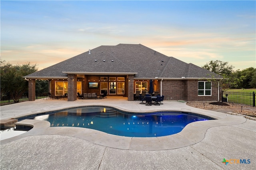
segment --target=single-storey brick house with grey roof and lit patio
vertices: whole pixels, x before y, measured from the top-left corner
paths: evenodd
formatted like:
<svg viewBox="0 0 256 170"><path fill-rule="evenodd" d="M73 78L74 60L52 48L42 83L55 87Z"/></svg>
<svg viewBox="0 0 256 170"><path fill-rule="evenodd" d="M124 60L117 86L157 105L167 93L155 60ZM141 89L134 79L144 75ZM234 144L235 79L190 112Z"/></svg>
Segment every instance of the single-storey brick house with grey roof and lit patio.
<svg viewBox="0 0 256 170"><path fill-rule="evenodd" d="M35 100L36 79L48 80L52 95L77 92L104 93L134 100L136 91L153 90L165 100L219 101L216 81L220 77L192 63L168 57L141 44L102 45L80 55L24 76L29 81L29 100ZM216 78L217 79L217 78Z"/></svg>

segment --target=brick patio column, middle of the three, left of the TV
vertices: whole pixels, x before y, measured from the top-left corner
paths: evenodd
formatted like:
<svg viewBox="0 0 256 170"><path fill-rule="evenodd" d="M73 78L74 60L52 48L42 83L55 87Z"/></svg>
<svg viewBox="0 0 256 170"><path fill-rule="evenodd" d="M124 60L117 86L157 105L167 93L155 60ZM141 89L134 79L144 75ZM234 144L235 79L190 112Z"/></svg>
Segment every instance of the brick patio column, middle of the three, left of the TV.
<svg viewBox="0 0 256 170"><path fill-rule="evenodd" d="M77 82L77 75L69 74L68 75L68 101L76 100L76 95L77 95L76 82Z"/></svg>

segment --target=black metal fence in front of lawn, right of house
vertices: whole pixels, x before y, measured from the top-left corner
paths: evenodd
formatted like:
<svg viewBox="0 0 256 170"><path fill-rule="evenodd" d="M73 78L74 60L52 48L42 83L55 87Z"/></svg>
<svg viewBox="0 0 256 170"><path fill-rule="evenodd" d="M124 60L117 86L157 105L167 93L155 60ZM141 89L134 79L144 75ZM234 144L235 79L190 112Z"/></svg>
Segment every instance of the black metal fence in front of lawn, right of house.
<svg viewBox="0 0 256 170"><path fill-rule="evenodd" d="M255 107L255 92L222 91L222 102Z"/></svg>

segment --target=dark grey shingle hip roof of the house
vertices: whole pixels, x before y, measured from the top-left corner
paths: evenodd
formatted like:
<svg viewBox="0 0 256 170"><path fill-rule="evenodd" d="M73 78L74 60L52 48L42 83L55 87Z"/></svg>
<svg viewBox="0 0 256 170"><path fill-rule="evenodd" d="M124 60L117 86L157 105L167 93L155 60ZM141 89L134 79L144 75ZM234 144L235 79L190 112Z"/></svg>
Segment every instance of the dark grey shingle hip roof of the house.
<svg viewBox="0 0 256 170"><path fill-rule="evenodd" d="M80 55L32 73L26 78L67 77L76 74L134 74L139 78L211 78L206 69L168 57L141 44L101 45Z"/></svg>

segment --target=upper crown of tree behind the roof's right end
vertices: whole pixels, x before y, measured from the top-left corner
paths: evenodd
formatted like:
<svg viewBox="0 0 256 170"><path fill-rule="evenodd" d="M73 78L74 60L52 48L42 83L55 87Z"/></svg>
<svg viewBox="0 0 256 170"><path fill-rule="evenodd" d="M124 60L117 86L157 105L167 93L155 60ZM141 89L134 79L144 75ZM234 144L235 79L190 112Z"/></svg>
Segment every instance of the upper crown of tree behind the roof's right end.
<svg viewBox="0 0 256 170"><path fill-rule="evenodd" d="M221 76L229 76L231 75L234 66L228 65L228 62L224 62L220 60L216 60L216 61L212 60L209 63L206 63L206 65L202 66L202 68L212 71Z"/></svg>

